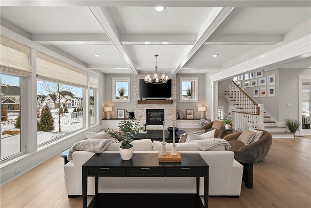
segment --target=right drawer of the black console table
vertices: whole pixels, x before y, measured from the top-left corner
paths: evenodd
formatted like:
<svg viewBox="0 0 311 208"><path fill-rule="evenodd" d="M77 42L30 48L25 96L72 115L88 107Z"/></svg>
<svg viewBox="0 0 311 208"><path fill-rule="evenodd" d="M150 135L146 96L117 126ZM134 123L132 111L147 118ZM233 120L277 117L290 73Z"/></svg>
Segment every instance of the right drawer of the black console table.
<svg viewBox="0 0 311 208"><path fill-rule="evenodd" d="M203 168L166 168L167 177L200 177L204 176Z"/></svg>

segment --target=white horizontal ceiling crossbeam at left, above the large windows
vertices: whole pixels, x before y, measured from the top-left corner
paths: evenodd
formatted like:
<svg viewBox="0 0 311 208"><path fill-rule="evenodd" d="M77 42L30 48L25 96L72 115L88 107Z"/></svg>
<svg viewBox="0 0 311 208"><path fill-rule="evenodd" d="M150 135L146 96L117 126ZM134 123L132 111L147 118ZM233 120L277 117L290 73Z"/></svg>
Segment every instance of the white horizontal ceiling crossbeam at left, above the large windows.
<svg viewBox="0 0 311 208"><path fill-rule="evenodd" d="M31 39L41 45L113 44L105 34L32 34Z"/></svg>

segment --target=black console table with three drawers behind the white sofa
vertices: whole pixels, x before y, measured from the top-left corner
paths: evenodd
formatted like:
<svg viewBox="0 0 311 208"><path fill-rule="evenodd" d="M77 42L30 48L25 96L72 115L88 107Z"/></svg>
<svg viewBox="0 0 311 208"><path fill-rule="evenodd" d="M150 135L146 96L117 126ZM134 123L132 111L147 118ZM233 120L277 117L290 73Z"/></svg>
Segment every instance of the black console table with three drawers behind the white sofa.
<svg viewBox="0 0 311 208"><path fill-rule="evenodd" d="M207 208L207 162L198 153L180 155L180 163L159 163L158 154L153 153L134 153L127 161L119 153L94 154L82 165L83 208L87 206L87 177L95 177L95 196L88 208ZM98 193L98 177L196 177L196 193ZM204 205L199 196L200 177L204 177Z"/></svg>

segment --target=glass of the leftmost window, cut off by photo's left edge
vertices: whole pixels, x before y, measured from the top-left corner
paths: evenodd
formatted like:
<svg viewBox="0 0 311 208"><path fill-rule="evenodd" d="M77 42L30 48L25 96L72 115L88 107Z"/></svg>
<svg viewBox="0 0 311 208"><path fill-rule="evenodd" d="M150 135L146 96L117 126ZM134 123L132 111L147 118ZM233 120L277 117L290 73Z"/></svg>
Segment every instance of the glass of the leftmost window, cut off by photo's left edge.
<svg viewBox="0 0 311 208"><path fill-rule="evenodd" d="M20 77L1 74L1 160L22 151Z"/></svg>

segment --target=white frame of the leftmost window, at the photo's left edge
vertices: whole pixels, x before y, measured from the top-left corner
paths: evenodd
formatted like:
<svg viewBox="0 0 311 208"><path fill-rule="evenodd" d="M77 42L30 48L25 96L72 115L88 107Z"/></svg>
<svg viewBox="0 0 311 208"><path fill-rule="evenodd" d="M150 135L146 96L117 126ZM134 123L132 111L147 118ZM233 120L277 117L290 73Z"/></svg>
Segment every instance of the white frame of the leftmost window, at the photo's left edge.
<svg viewBox="0 0 311 208"><path fill-rule="evenodd" d="M24 84L24 78L25 77L17 76L17 75L9 75L9 74L4 74L4 75L19 77L19 88L20 88L20 97L19 97L19 103L20 103L19 104L19 111L20 111L20 113L19 113L20 114L20 133L19 133L19 135L20 135L20 152L13 154L11 156L8 156L6 158L3 158L3 159L0 158L1 162L6 161L6 160L12 160L12 159L17 158L17 157L19 157L25 153L26 146L25 146L25 141L24 141L24 138L25 138L24 134L25 134L25 130L27 129L27 127L25 127L25 124L27 123L25 121L26 116L25 116L25 113L23 113L23 112L26 112L26 108L25 108L26 103L25 103L25 99L23 96L23 89L24 89L23 84ZM23 115L22 115L22 113L23 113ZM1 125L0 125L0 132L1 132ZM1 141L0 141L0 153L1 153Z"/></svg>

